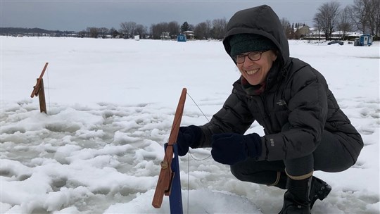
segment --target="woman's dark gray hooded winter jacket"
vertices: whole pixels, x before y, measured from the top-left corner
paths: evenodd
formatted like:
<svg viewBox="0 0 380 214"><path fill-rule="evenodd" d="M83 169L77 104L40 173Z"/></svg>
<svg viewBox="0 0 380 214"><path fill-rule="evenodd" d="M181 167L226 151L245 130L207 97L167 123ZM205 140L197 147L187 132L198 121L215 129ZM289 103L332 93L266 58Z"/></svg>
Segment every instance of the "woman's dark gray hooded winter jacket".
<svg viewBox="0 0 380 214"><path fill-rule="evenodd" d="M289 56L288 41L272 8L249 8L232 16L223 40L227 53L231 49L229 38L241 33L271 39L279 56L261 94L249 94L240 79L234 82L222 109L201 126L203 138L198 147L210 147L213 134L244 134L256 120L265 131L258 160L306 156L315 151L322 133L328 130L348 149L355 163L363 147L360 134L339 108L324 77L308 63ZM291 128L282 130L285 125Z"/></svg>

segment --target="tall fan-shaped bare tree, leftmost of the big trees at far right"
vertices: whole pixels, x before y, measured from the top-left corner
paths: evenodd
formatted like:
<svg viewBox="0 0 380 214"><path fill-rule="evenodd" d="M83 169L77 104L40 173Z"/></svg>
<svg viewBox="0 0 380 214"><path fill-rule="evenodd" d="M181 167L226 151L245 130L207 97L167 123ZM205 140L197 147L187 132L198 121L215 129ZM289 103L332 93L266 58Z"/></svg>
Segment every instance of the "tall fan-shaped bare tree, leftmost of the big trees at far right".
<svg viewBox="0 0 380 214"><path fill-rule="evenodd" d="M339 7L340 4L337 1L330 1L319 6L318 12L315 14L314 19L324 31L326 40L330 39L338 22Z"/></svg>

